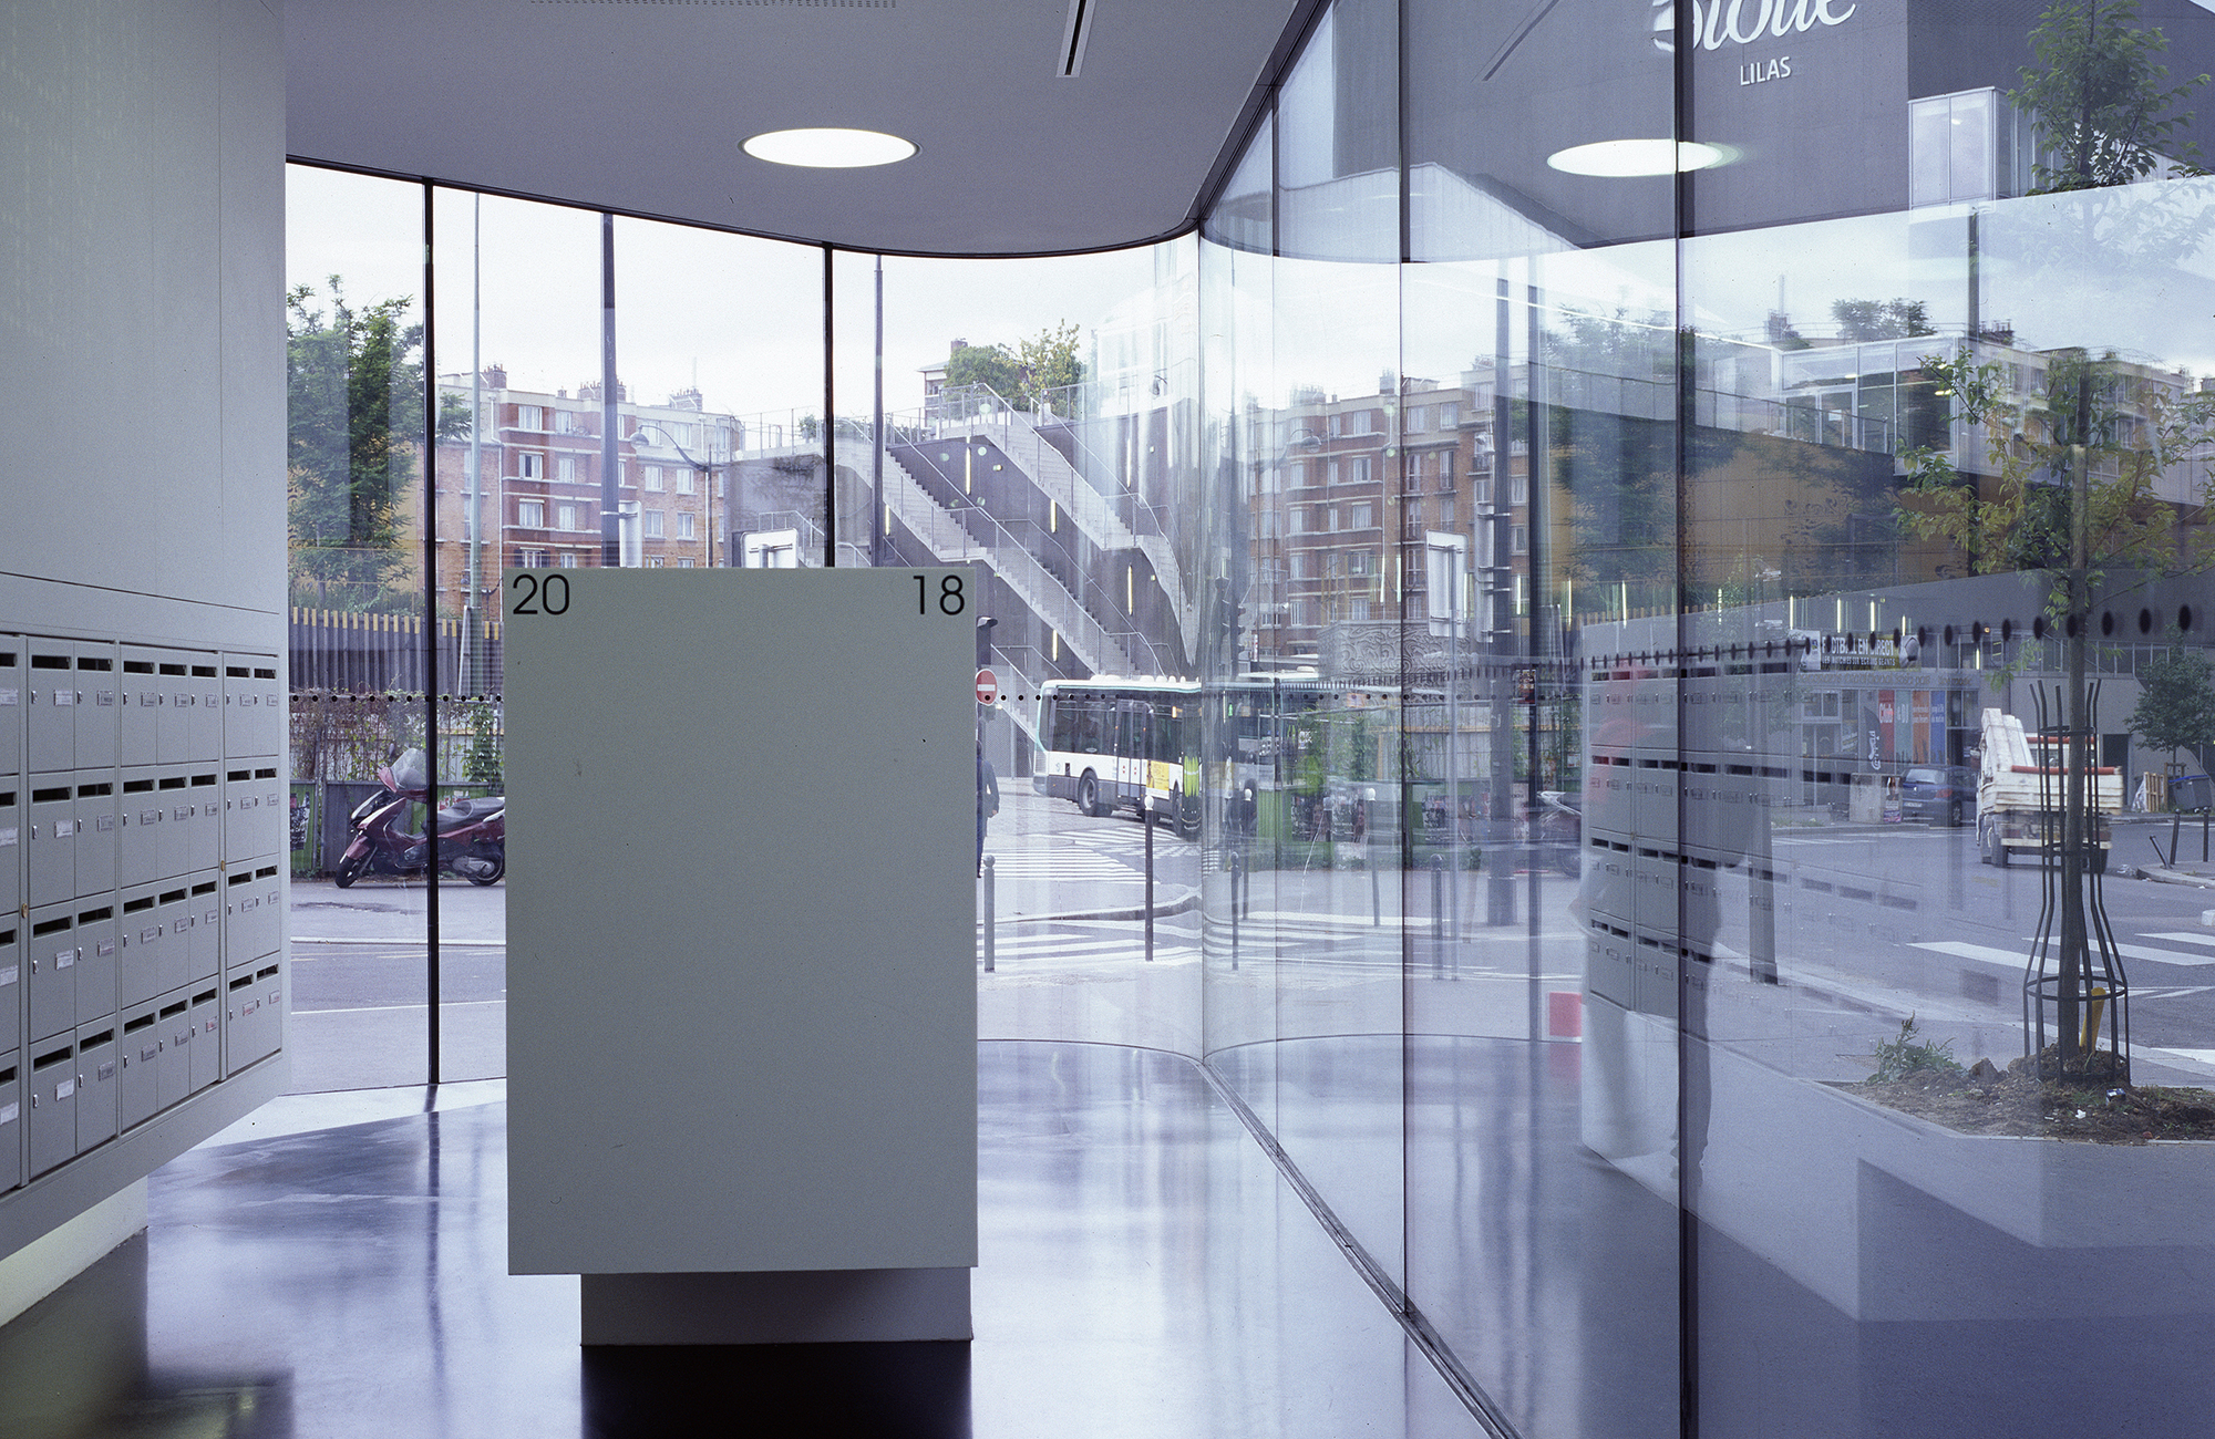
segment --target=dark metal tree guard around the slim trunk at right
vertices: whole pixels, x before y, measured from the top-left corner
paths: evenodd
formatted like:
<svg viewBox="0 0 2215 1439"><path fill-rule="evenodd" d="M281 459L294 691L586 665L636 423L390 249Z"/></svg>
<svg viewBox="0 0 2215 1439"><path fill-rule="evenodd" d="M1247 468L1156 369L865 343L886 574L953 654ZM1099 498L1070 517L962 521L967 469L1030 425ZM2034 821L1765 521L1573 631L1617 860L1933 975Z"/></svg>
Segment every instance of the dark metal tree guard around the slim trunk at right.
<svg viewBox="0 0 2215 1439"><path fill-rule="evenodd" d="M2031 939L2031 956L2022 972L2022 1052L2038 1078L2082 1078L2111 1085L2131 1083L2131 985L2122 972L2122 956L2115 954L2115 930L2106 919L2104 863L2100 850L2100 766L2087 766L2084 815L2080 824L2067 824L2069 804L2069 755L2075 744L2091 744L2098 735L2100 684L2093 682L2084 706L2084 731L2069 731L2062 724L2062 691L2053 689L2051 708L2047 689L2033 686L2038 702L2038 739L2031 750L2031 766L2038 770L2038 934ZM2049 762L2058 750L2060 764ZM2091 750L2087 750L2091 753ZM2073 835L2071 835L2073 832ZM2078 874L2082 874L2084 905L2084 954L2075 965L2075 1012L2082 1016L2080 1072L2062 1072L2062 996L2069 992L2067 941L2069 934L2058 923L2067 894L2067 857L2075 848ZM2047 1014L2053 1012L2053 1063L2047 1065ZM2098 1047L2102 1016L2106 1021L2106 1052Z"/></svg>

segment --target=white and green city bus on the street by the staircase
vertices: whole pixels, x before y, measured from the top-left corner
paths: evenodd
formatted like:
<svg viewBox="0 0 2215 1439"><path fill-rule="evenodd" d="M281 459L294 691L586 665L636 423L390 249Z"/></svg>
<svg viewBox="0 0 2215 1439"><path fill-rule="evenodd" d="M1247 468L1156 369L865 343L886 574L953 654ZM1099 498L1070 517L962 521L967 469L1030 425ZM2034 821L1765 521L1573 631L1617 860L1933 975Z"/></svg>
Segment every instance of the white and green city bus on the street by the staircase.
<svg viewBox="0 0 2215 1439"><path fill-rule="evenodd" d="M1085 815L1170 815L1201 828L1198 680L1048 680L1039 686L1039 750L1030 784Z"/></svg>

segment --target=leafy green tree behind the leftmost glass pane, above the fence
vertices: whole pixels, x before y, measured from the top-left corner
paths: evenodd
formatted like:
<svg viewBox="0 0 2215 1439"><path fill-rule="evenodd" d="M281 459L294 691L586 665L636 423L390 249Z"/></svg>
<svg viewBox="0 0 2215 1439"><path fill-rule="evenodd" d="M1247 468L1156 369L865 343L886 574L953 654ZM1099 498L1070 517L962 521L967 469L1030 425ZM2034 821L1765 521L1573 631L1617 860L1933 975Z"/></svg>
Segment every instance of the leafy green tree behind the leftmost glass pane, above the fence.
<svg viewBox="0 0 2215 1439"><path fill-rule="evenodd" d="M423 445L423 325L412 297L354 308L337 275L328 310L310 286L286 294L286 514L292 591L337 609L388 609L405 591L410 485ZM441 438L470 432L445 396Z"/></svg>

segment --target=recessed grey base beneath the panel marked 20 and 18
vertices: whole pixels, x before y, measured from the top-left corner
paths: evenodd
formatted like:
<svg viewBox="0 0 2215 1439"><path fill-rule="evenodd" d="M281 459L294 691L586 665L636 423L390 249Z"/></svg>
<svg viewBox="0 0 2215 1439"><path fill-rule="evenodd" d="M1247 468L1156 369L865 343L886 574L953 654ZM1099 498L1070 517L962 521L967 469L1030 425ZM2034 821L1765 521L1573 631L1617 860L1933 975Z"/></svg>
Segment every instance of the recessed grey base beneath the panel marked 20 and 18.
<svg viewBox="0 0 2215 1439"><path fill-rule="evenodd" d="M585 1275L585 1344L970 1337L968 1269Z"/></svg>

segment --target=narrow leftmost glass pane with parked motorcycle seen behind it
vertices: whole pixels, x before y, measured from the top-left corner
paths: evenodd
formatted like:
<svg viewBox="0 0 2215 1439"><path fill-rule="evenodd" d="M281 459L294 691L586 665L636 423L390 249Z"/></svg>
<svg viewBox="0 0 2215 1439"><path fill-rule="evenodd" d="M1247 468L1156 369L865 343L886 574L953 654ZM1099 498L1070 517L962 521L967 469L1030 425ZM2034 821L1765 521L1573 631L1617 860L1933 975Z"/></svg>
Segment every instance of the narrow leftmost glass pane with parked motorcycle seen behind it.
<svg viewBox="0 0 2215 1439"><path fill-rule="evenodd" d="M423 190L295 166L286 184L295 1089L421 1085ZM210 655L213 660L213 655ZM213 666L210 666L213 675ZM202 779L179 770L179 804ZM206 775L208 795L215 775ZM361 824L350 824L359 815ZM365 830L357 841L354 830ZM228 874L195 881L213 897ZM199 910L199 903L193 905Z"/></svg>

